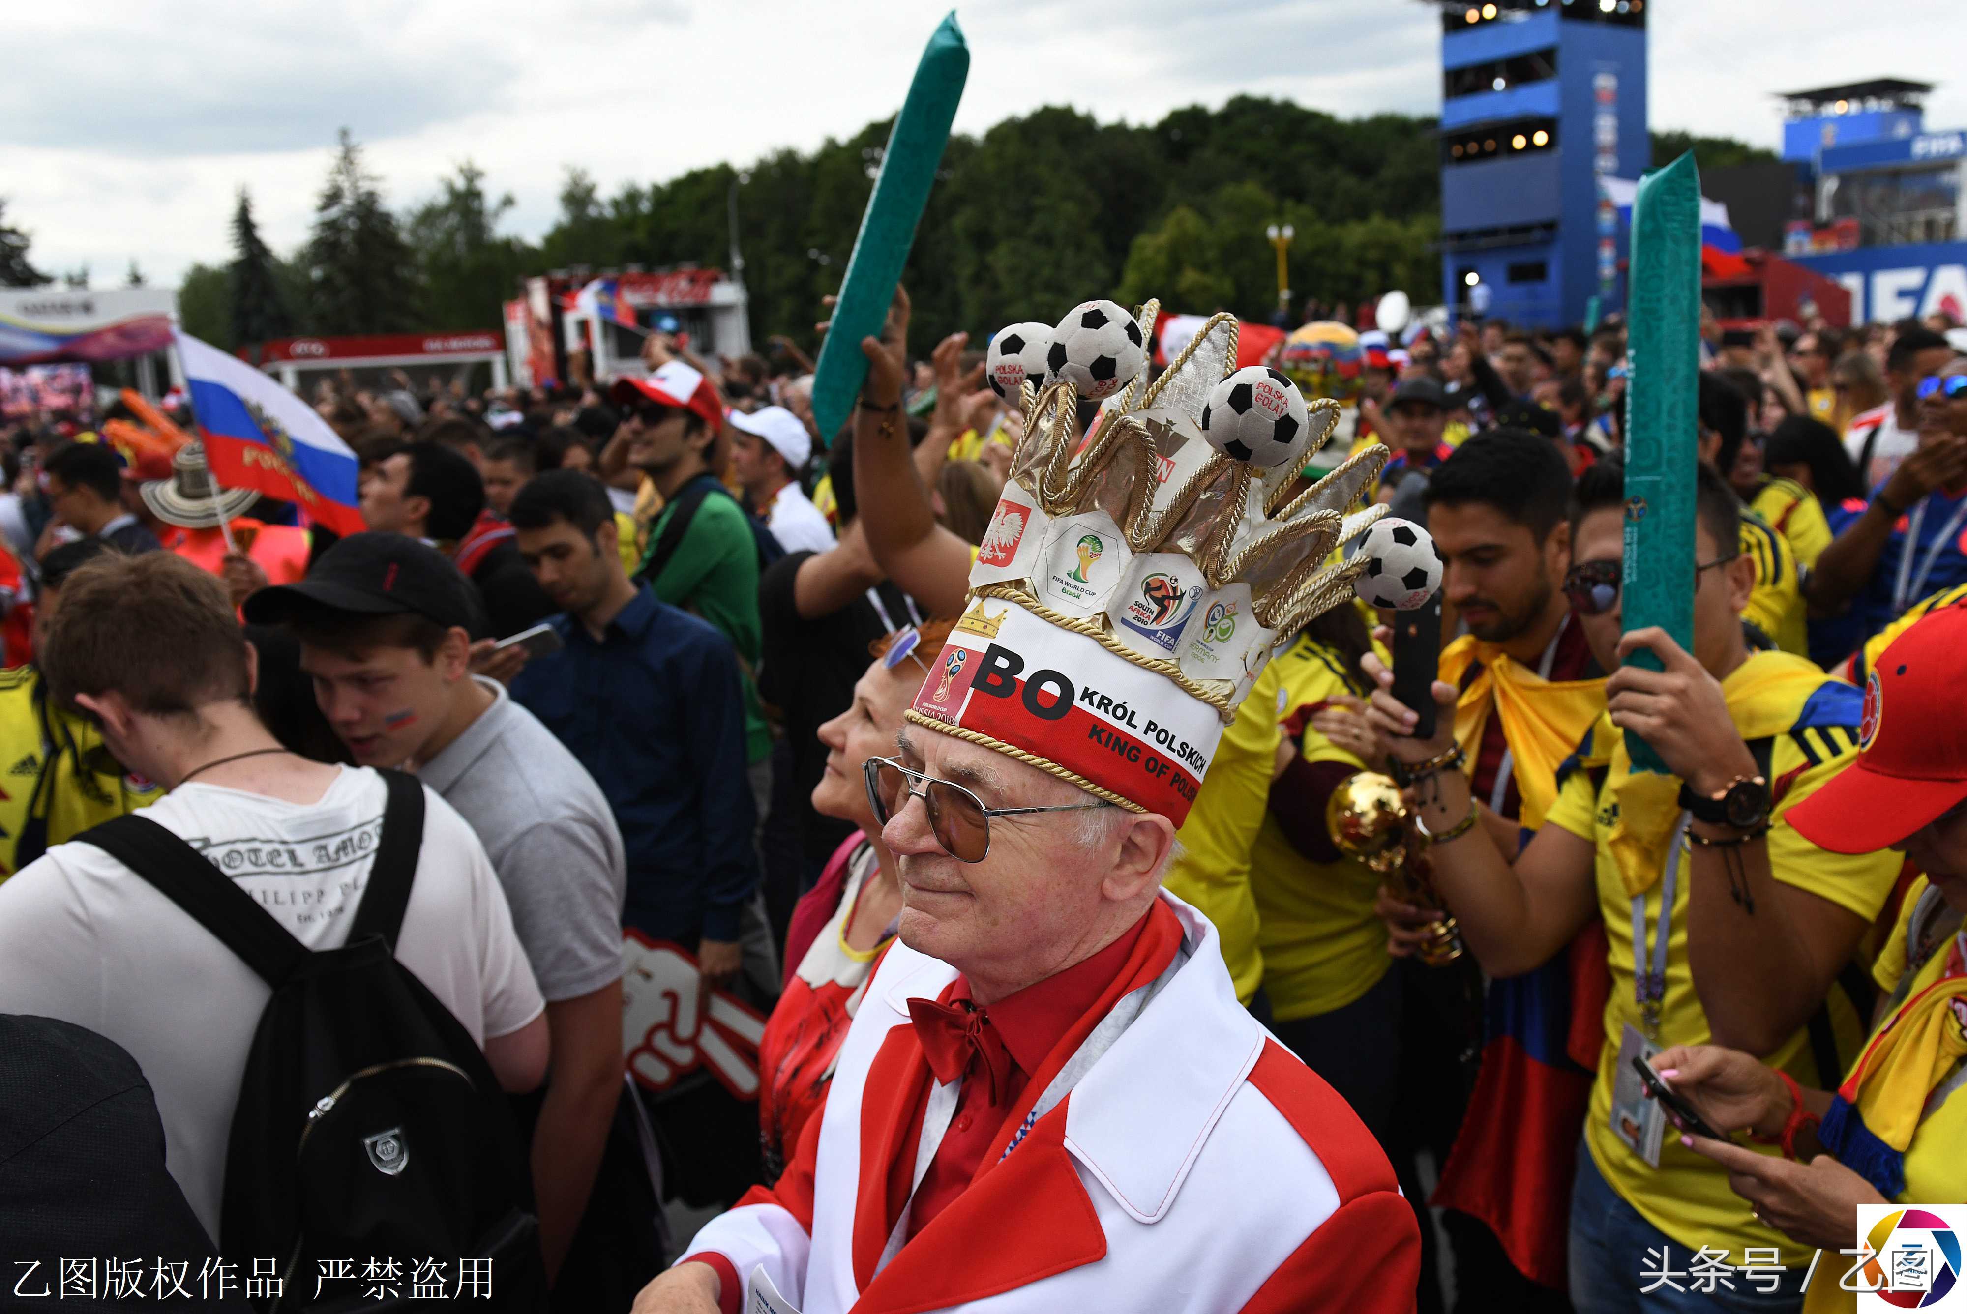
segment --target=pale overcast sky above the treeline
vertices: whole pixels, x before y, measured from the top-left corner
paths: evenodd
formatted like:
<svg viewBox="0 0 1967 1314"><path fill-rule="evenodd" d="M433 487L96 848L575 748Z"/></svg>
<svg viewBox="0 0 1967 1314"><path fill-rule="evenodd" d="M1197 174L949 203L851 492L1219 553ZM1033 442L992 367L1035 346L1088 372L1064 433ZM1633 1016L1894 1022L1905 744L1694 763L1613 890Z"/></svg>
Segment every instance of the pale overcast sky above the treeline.
<svg viewBox="0 0 1967 1314"><path fill-rule="evenodd" d="M472 159L551 226L566 165L604 193L891 114L944 4L911 0L92 0L18 4L0 79L0 197L43 271L153 283L230 258L250 187L271 246L307 236L340 126L389 205ZM1237 92L1341 116L1440 110L1422 0L993 0L962 4L956 126L1070 102L1153 122ZM1961 0L1654 0L1654 128L1774 148L1768 92L1871 77L1939 83L1928 126L1967 126Z"/></svg>

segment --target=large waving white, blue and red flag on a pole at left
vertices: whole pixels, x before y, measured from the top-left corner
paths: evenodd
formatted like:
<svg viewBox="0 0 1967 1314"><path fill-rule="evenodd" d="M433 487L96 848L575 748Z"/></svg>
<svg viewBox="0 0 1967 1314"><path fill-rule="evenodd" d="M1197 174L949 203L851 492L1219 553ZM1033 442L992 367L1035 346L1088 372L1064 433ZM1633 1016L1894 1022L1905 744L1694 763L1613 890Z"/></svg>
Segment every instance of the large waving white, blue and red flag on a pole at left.
<svg viewBox="0 0 1967 1314"><path fill-rule="evenodd" d="M238 356L177 330L205 460L226 488L299 504L334 533L362 533L360 462L311 405Z"/></svg>

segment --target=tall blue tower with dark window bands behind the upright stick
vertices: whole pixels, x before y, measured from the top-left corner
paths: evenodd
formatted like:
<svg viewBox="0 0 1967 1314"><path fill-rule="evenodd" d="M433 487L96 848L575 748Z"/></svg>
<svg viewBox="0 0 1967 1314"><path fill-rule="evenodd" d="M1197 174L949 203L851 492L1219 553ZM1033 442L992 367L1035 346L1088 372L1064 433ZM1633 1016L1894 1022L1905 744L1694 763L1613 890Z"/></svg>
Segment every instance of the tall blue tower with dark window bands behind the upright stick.
<svg viewBox="0 0 1967 1314"><path fill-rule="evenodd" d="M1625 305L1599 177L1648 167L1646 0L1442 10L1442 301L1562 327Z"/></svg>

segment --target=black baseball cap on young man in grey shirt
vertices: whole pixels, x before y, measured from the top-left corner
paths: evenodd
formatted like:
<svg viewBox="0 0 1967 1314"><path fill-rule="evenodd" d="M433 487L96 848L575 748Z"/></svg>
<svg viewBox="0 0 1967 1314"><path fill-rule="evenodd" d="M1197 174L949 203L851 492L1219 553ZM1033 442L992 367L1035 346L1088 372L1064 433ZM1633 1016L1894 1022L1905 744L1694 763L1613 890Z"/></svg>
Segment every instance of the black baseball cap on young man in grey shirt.
<svg viewBox="0 0 1967 1314"><path fill-rule="evenodd" d="M476 631L478 622L464 574L435 547L405 533L352 533L321 553L305 580L262 588L242 610L256 626L277 626L315 608L358 616L415 614L466 631Z"/></svg>

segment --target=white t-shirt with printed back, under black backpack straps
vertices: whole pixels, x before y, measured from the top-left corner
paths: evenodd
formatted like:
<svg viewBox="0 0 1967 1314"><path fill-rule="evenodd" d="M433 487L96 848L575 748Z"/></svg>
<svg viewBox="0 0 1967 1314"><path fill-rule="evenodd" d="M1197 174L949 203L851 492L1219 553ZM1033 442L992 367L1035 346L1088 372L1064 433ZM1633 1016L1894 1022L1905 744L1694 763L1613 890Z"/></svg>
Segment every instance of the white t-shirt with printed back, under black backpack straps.
<svg viewBox="0 0 1967 1314"><path fill-rule="evenodd" d="M193 781L144 816L325 950L348 938L386 799L374 771L342 767L315 803ZM545 1003L478 836L429 789L423 806L395 956L482 1045ZM0 1013L59 1017L130 1050L157 1094L171 1176L212 1237L232 1107L269 995L191 915L92 844L57 844L0 885Z"/></svg>

